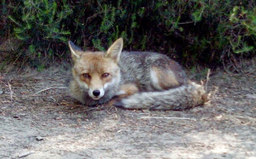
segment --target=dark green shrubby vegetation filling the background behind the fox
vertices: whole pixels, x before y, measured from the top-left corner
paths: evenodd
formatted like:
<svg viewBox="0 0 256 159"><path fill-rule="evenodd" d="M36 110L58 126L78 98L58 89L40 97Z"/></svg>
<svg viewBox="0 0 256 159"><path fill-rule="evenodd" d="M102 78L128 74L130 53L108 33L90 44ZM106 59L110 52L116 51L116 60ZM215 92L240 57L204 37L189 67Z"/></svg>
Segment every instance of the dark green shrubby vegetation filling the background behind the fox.
<svg viewBox="0 0 256 159"><path fill-rule="evenodd" d="M186 67L220 65L239 72L255 57L255 0L2 0L0 68L17 61L41 70L69 60L67 41L104 50L156 51Z"/></svg>

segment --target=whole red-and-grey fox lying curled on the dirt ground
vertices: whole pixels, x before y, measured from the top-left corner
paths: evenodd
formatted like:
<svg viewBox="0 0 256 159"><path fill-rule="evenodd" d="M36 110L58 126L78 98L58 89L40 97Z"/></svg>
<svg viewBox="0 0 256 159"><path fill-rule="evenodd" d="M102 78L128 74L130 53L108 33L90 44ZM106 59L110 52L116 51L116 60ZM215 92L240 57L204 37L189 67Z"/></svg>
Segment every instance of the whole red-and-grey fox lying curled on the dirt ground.
<svg viewBox="0 0 256 159"><path fill-rule="evenodd" d="M204 86L191 82L177 62L155 52L122 51L117 39L107 51L83 51L69 41L71 97L85 106L108 103L123 109L185 110L204 104Z"/></svg>

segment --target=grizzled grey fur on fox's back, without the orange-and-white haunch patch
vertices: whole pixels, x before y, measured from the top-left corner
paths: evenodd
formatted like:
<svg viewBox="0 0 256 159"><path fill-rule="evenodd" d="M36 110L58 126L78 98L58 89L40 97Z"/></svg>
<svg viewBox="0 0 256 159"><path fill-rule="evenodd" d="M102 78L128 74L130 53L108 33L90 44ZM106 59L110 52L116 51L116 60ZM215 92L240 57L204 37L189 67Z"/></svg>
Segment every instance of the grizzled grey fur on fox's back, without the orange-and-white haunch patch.
<svg viewBox="0 0 256 159"><path fill-rule="evenodd" d="M177 76L180 85L187 83L186 73L181 66L166 55L153 52L123 51L120 55L121 84L137 84L139 90L156 91L151 84L150 68L157 66L161 69L170 68Z"/></svg>

